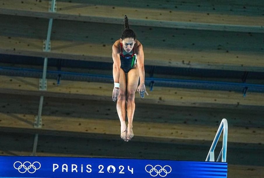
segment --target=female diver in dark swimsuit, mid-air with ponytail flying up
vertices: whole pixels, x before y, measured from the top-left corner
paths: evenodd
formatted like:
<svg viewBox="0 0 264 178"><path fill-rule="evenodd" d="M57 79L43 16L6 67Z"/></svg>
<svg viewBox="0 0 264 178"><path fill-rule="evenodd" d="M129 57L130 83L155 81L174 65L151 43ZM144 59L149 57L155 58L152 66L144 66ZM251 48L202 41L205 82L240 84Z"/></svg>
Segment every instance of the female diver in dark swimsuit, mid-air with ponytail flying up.
<svg viewBox="0 0 264 178"><path fill-rule="evenodd" d="M116 109L121 123L121 138L129 141L133 138L133 116L135 111L135 92L144 98L148 95L145 87L144 53L142 44L129 28L125 15L125 28L122 37L113 44L113 101L117 100ZM139 83L140 78L140 84ZM125 123L127 111L128 125Z"/></svg>

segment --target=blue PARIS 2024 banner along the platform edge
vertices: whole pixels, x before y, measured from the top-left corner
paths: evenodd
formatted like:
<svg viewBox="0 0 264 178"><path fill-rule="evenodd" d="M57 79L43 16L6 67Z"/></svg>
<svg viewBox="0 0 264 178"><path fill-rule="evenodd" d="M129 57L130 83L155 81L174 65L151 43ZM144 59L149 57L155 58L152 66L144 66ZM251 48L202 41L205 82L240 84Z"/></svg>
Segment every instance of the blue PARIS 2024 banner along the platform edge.
<svg viewBox="0 0 264 178"><path fill-rule="evenodd" d="M227 178L227 163L150 159L1 156L0 178Z"/></svg>

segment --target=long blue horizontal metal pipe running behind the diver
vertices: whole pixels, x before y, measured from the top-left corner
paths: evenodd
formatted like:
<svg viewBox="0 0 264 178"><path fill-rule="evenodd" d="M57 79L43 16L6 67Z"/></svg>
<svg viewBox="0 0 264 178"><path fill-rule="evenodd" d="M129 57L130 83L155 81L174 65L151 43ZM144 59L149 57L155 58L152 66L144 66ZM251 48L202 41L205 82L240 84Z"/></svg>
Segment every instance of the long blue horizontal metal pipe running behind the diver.
<svg viewBox="0 0 264 178"><path fill-rule="evenodd" d="M1 75L21 75L28 77L38 77L42 70L15 68L15 67L0 67ZM64 80L80 80L80 81L95 81L95 82L113 82L112 75L99 75L90 73L76 73L64 71L47 71L49 78L57 78L61 74ZM239 91L243 92L247 87L248 92L264 93L263 84L248 84L248 83L235 83L235 82L215 82L215 81L202 81L202 80L180 80L180 79L164 79L164 78L145 78L146 84L153 84L153 86L162 87L179 87L179 88L194 88L194 89L211 89L223 91Z"/></svg>

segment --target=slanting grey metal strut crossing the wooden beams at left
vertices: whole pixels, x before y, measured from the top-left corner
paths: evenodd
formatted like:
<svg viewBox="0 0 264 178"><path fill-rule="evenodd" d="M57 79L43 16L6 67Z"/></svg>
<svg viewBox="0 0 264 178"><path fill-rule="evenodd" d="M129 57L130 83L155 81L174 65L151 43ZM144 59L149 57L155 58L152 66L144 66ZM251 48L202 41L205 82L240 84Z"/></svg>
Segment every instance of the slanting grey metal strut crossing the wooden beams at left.
<svg viewBox="0 0 264 178"><path fill-rule="evenodd" d="M55 0L52 0L51 8L49 8L49 11L55 12L55 6L56 6L56 2ZM50 51L50 35L51 35L52 23L53 23L53 19L50 19L49 25L48 25L47 39L44 42L45 49L43 49L43 51L46 51L46 52ZM47 65L48 65L48 58L45 57L44 64L43 64L43 75L42 75L42 79L40 79L39 90L47 90L47 82L46 82ZM42 113L42 107L43 107L43 100L44 100L44 96L40 96L39 112L38 112L38 116L36 116L35 118L35 123L34 123L35 128L41 128L41 124L42 124L41 113ZM39 139L39 134L35 134L33 152L32 152L33 156L36 154L38 139Z"/></svg>

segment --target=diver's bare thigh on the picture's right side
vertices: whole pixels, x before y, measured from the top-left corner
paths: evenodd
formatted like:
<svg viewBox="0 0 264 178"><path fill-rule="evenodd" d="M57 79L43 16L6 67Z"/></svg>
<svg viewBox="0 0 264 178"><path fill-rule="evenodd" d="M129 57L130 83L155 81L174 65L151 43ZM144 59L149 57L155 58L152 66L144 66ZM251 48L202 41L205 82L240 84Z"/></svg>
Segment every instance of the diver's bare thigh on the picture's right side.
<svg viewBox="0 0 264 178"><path fill-rule="evenodd" d="M127 93L134 94L139 82L139 69L136 66L127 73Z"/></svg>

